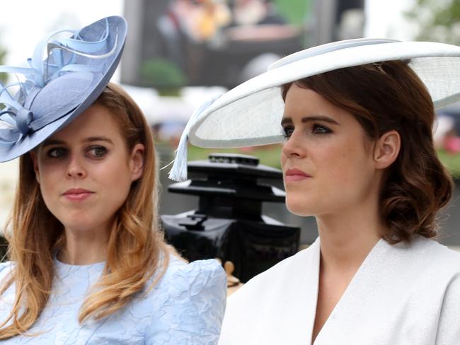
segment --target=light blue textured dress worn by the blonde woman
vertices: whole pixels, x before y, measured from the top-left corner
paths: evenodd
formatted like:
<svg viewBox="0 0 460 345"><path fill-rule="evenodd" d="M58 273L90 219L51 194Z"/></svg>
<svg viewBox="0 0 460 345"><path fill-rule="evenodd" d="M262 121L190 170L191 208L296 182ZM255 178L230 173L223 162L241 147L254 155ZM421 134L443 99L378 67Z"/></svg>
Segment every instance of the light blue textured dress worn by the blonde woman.
<svg viewBox="0 0 460 345"><path fill-rule="evenodd" d="M50 300L30 332L0 344L155 344L214 345L224 317L226 274L213 259L187 264L171 256L166 274L148 294L100 322L79 324L78 313L88 288L104 262L74 266L54 260L57 277ZM11 269L0 264L0 281ZM142 295L142 296L141 296ZM14 286L0 298L0 318L9 314Z"/></svg>

